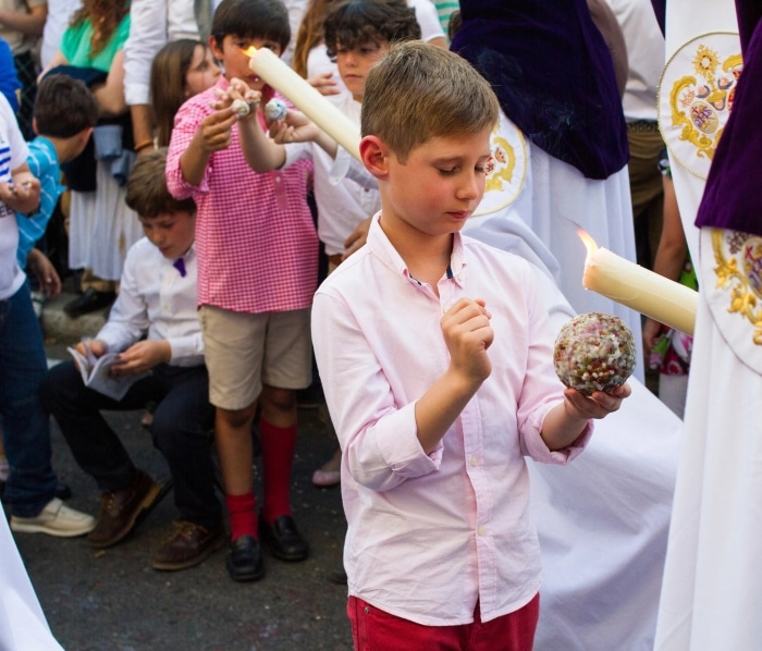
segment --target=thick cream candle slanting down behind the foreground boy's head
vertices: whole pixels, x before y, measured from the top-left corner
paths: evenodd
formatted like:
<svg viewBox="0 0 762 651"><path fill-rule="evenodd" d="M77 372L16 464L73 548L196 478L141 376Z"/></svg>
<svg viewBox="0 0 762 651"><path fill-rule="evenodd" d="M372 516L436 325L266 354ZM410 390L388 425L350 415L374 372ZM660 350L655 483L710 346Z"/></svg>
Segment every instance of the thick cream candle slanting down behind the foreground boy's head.
<svg viewBox="0 0 762 651"><path fill-rule="evenodd" d="M299 111L360 160L360 130L269 48L248 48L249 67Z"/></svg>

